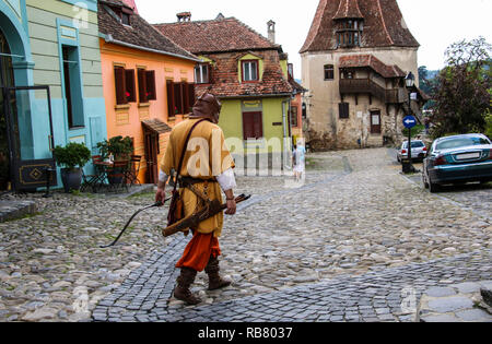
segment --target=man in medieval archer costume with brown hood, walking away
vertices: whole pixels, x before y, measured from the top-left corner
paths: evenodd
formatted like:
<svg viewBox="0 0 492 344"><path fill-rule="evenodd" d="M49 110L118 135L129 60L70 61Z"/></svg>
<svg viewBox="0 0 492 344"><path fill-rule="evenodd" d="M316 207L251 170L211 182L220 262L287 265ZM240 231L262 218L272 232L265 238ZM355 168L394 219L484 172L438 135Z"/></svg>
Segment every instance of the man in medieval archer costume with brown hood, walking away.
<svg viewBox="0 0 492 344"><path fill-rule="evenodd" d="M233 192L236 187L234 162L225 145L223 131L218 126L221 107L221 103L209 93L198 98L189 118L173 129L162 159L156 201L164 201L166 182L181 163L177 173L183 181L179 185L179 195L184 203L185 217L192 215L201 206L200 194L210 201L219 200L222 203L221 190L227 200L225 213L236 213ZM187 139L188 144L184 152ZM223 220L224 214L221 212L201 222L196 228L190 228L194 237L176 265L180 269L180 275L174 290L174 296L188 305L201 303L200 298L190 292L198 272L204 270L209 275L209 290L231 285L230 281L224 281L219 274L219 237ZM188 232L185 232L185 235L188 235Z"/></svg>

